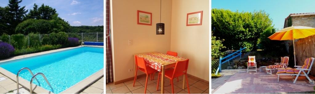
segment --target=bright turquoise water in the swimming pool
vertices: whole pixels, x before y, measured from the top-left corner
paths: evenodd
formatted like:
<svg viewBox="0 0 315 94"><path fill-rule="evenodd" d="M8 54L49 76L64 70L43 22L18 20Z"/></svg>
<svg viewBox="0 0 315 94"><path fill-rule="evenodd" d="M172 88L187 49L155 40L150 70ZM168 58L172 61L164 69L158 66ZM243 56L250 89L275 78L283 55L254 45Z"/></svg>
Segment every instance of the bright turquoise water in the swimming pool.
<svg viewBox="0 0 315 94"><path fill-rule="evenodd" d="M0 67L15 75L23 67L30 68L34 74L42 72L54 93L60 93L104 67L104 48L79 47L0 63ZM21 71L19 76L28 81L32 78L27 70ZM42 76L36 77L41 87L51 91ZM38 85L36 80L33 83Z"/></svg>

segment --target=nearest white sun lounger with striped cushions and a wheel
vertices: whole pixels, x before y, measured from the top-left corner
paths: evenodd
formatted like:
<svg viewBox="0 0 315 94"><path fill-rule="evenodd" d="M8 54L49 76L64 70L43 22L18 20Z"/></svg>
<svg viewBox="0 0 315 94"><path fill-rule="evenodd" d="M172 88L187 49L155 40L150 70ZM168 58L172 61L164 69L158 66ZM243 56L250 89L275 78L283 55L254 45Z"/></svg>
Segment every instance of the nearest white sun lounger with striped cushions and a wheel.
<svg viewBox="0 0 315 94"><path fill-rule="evenodd" d="M313 63L314 63L314 58L311 57L311 58L305 59L303 66L294 66L294 67L297 67L295 69L279 68L277 71L278 81L279 81L280 75L296 76L293 83L296 82L296 80L299 76L306 76L306 78L309 80L309 83L314 84L314 81L308 77L308 73L310 73L312 66L313 66Z"/></svg>

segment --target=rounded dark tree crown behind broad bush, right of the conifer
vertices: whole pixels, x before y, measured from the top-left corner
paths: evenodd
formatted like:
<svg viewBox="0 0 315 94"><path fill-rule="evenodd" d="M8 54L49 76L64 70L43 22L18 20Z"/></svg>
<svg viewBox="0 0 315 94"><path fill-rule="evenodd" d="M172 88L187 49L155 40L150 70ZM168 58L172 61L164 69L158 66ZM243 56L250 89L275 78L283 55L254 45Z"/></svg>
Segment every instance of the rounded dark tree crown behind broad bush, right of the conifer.
<svg viewBox="0 0 315 94"><path fill-rule="evenodd" d="M36 3L34 3L34 7L33 9L30 10L30 12L26 15L26 17L29 18L34 18L34 19L45 19L45 20L51 20L53 19L53 16L57 14L57 11L55 8L51 8L49 6L45 6L44 4L42 4L42 6L40 6L38 8L38 6L36 5Z"/></svg>

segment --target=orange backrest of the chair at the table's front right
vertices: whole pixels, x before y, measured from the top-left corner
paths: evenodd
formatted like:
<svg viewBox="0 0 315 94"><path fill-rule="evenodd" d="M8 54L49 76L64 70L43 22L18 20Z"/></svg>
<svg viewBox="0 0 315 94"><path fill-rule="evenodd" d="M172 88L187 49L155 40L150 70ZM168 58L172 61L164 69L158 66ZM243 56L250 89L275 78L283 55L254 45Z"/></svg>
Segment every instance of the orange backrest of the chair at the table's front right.
<svg viewBox="0 0 315 94"><path fill-rule="evenodd" d="M181 76L187 73L189 59L177 61L172 78Z"/></svg>

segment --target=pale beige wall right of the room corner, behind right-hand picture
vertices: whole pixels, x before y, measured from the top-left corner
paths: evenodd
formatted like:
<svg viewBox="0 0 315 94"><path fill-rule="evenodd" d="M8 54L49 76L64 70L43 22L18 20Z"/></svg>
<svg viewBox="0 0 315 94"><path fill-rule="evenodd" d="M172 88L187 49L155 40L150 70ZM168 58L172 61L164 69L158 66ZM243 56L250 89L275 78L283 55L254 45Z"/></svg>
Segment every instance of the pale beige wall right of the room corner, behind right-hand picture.
<svg viewBox="0 0 315 94"><path fill-rule="evenodd" d="M203 11L202 25L186 26L187 13ZM173 0L171 50L189 59L188 74L209 81L209 0Z"/></svg>

